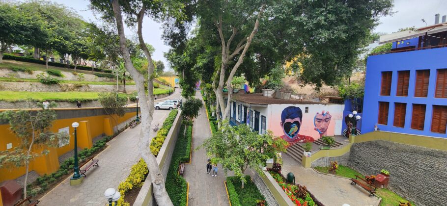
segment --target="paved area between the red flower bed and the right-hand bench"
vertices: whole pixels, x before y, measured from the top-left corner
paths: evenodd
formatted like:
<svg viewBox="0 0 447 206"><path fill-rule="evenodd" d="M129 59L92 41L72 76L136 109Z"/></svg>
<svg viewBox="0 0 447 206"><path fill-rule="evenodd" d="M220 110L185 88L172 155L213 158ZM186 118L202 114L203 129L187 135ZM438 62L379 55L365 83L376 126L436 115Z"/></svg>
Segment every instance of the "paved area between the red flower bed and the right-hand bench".
<svg viewBox="0 0 447 206"><path fill-rule="evenodd" d="M351 185L351 180L323 175L311 168L304 168L287 154L282 155L282 174L292 172L296 182L305 185L322 204L327 206L378 206L377 197L368 197L363 188Z"/></svg>

